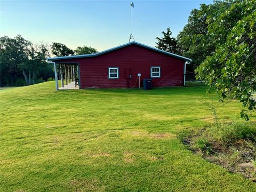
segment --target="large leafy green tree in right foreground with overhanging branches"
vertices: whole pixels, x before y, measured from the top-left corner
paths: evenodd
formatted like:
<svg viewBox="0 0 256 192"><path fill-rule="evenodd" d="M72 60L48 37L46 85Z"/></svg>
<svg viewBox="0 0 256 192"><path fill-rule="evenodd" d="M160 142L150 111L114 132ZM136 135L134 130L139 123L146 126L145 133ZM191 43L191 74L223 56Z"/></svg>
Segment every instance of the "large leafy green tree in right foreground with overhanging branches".
<svg viewBox="0 0 256 192"><path fill-rule="evenodd" d="M216 44L214 53L196 69L197 78L217 91L220 101L238 99L246 109L256 111L256 2L234 1L208 26Z"/></svg>

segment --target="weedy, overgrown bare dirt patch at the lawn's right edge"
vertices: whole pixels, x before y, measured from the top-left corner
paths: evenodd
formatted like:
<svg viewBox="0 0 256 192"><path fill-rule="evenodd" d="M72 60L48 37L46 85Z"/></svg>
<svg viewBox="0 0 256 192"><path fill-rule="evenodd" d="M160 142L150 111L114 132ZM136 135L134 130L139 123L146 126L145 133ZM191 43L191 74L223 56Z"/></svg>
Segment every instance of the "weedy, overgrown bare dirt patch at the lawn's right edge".
<svg viewBox="0 0 256 192"><path fill-rule="evenodd" d="M241 126L231 124L228 125L230 131L225 130L228 128L224 126L220 127L220 129L224 129L225 133L218 132L218 129L215 130L216 133L212 133L214 130L209 131L209 129L214 129L213 127L191 130L181 133L180 139L190 150L201 155L207 161L221 165L230 172L240 173L245 178L256 182L255 124L251 125L246 127L245 124L241 124ZM243 134L242 132L246 129L246 134ZM233 135L229 135L229 132L232 132ZM218 138L215 138L215 134L218 134Z"/></svg>

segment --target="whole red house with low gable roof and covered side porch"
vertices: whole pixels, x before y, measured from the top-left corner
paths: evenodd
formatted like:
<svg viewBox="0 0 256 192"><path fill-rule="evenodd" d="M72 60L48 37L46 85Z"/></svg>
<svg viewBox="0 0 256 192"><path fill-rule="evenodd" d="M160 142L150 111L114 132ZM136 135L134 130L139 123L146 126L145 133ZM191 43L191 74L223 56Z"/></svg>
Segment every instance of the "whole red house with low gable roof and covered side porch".
<svg viewBox="0 0 256 192"><path fill-rule="evenodd" d="M47 60L54 62L54 66L55 63L62 66L61 73L64 67L65 73L66 67L69 68L70 74L79 79L79 89L139 87L139 83L142 86L144 78L151 78L154 87L183 86L186 64L191 61L189 58L138 42L126 43L94 54ZM141 75L140 78L138 75ZM67 77L67 73L65 76Z"/></svg>

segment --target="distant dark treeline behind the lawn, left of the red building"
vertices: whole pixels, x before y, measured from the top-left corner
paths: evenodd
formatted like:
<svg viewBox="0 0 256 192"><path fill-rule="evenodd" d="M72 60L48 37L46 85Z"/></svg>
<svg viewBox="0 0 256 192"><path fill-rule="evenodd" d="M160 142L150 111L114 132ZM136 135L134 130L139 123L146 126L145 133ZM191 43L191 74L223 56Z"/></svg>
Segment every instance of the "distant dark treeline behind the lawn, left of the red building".
<svg viewBox="0 0 256 192"><path fill-rule="evenodd" d="M54 78L53 66L46 62L51 54L56 57L91 54L97 52L90 46L69 49L61 43L33 44L21 35L14 38L3 36L0 38L0 86L23 86Z"/></svg>

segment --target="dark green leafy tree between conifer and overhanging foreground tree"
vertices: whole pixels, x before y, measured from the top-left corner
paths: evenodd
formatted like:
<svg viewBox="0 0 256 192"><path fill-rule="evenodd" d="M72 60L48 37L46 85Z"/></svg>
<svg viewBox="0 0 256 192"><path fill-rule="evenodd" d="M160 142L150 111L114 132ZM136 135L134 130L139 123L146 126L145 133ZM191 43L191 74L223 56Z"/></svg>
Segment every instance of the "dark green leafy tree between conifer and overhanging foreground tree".
<svg viewBox="0 0 256 192"><path fill-rule="evenodd" d="M193 60L188 66L191 70L214 53L216 45L214 38L209 35L208 26L229 6L229 2L214 1L210 5L201 4L200 9L191 11L187 25L177 36L182 55Z"/></svg>

